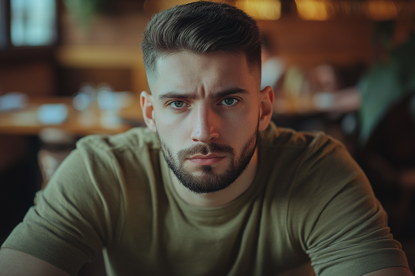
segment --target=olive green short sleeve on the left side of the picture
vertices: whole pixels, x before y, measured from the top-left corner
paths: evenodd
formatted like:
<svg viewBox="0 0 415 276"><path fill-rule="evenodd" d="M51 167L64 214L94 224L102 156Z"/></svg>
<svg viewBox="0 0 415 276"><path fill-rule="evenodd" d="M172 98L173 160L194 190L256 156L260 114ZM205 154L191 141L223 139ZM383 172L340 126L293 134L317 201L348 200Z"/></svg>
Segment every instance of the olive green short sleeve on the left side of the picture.
<svg viewBox="0 0 415 276"><path fill-rule="evenodd" d="M122 177L113 160L110 151L78 143L2 247L76 275L122 225Z"/></svg>

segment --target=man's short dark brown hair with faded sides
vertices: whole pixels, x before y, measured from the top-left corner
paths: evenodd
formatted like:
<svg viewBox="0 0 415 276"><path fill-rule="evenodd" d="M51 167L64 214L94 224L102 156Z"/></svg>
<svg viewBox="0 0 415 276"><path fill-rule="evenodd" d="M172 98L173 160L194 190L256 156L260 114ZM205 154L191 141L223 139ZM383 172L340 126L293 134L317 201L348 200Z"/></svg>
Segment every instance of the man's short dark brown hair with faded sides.
<svg viewBox="0 0 415 276"><path fill-rule="evenodd" d="M157 60L178 52L245 55L251 71L261 68L261 34L256 21L225 3L198 1L154 14L141 48L151 77Z"/></svg>

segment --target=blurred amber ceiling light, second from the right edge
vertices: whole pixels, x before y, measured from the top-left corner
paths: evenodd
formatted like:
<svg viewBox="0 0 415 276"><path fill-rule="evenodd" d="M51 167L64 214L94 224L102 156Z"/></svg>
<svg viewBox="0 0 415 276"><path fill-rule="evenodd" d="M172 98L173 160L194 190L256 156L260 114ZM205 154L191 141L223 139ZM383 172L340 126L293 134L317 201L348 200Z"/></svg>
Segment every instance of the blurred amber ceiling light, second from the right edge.
<svg viewBox="0 0 415 276"><path fill-rule="evenodd" d="M327 0L295 0L301 19L324 21L330 18L334 8Z"/></svg>

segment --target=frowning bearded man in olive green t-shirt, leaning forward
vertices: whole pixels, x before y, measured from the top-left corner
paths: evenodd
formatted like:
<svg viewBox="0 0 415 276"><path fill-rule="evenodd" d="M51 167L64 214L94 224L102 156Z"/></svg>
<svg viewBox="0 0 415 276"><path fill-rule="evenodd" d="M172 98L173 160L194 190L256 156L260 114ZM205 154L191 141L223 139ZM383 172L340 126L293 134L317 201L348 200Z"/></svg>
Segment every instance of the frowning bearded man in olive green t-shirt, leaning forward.
<svg viewBox="0 0 415 276"><path fill-rule="evenodd" d="M91 136L2 245L4 275L412 275L338 142L270 123L256 22L225 4L156 14L146 129ZM4 272L5 271L5 272Z"/></svg>

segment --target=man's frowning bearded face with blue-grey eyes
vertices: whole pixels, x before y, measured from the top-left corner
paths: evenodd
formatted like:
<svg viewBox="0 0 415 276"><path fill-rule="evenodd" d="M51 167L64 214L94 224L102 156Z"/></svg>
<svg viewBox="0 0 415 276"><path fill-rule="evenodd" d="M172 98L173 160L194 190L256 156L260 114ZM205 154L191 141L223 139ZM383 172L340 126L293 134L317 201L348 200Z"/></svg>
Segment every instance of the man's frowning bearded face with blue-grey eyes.
<svg viewBox="0 0 415 276"><path fill-rule="evenodd" d="M157 63L151 83L164 157L195 193L232 184L256 149L259 72L230 53L175 53Z"/></svg>

